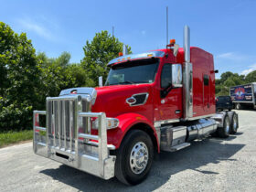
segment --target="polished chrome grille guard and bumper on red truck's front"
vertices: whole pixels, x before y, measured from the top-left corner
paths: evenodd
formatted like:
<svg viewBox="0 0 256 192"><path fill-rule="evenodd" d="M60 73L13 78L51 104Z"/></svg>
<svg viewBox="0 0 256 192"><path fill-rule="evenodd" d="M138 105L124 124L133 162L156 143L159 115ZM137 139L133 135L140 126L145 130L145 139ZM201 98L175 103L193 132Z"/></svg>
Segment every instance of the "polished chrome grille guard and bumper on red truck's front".
<svg viewBox="0 0 256 192"><path fill-rule="evenodd" d="M33 149L35 154L72 166L81 171L110 179L114 176L115 149L107 144L104 112L82 112L80 95L47 99L47 111L34 111ZM46 115L46 127L39 126L39 115ZM99 119L98 135L91 134L91 117Z"/></svg>

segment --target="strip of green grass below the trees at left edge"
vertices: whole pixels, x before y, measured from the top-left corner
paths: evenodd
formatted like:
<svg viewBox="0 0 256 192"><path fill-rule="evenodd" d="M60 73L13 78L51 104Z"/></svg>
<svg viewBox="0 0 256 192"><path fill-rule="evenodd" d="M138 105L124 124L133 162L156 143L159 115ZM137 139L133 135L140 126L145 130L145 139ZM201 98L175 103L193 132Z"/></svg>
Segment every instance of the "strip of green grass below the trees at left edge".
<svg viewBox="0 0 256 192"><path fill-rule="evenodd" d="M21 141L31 140L33 138L33 130L24 130L20 132L4 132L0 133L0 148L8 144L16 144Z"/></svg>

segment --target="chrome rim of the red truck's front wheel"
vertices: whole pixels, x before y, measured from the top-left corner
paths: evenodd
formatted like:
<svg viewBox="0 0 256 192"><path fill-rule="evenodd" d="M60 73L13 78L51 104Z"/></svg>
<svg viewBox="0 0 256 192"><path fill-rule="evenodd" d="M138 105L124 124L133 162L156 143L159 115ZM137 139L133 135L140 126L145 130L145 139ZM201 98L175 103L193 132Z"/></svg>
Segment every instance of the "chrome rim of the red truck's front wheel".
<svg viewBox="0 0 256 192"><path fill-rule="evenodd" d="M148 149L143 142L134 144L130 155L130 166L134 174L141 174L148 163Z"/></svg>

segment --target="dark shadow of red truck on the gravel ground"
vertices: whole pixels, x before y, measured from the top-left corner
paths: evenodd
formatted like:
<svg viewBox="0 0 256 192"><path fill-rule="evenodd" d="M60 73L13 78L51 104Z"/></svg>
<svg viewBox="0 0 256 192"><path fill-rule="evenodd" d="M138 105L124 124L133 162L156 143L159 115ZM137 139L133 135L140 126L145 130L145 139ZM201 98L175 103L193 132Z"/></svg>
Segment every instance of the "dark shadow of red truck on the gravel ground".
<svg viewBox="0 0 256 192"><path fill-rule="evenodd" d="M231 137L234 139L236 136ZM163 186L172 179L172 176L188 169L206 175L218 175L218 172L203 170L201 166L219 164L221 161L236 161L230 157L245 145L225 144L223 141L225 140L209 137L203 141L195 141L189 147L175 153L162 152L155 157L147 179L134 187L124 186L116 178L103 180L67 165L60 165L57 169L42 170L40 173L81 191L152 191Z"/></svg>

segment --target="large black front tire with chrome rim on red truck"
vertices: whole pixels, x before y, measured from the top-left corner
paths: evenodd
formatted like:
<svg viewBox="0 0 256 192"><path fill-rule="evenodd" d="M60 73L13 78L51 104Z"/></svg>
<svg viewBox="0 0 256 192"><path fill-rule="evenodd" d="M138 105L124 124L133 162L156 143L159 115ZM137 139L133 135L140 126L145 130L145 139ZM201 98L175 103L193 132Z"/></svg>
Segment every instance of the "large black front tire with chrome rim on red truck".
<svg viewBox="0 0 256 192"><path fill-rule="evenodd" d="M135 162L136 157L142 162ZM150 136L141 130L132 130L124 137L117 150L115 176L123 184L139 184L148 175L153 158L154 146Z"/></svg>

